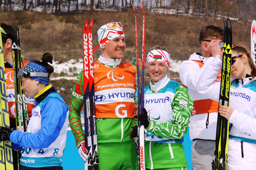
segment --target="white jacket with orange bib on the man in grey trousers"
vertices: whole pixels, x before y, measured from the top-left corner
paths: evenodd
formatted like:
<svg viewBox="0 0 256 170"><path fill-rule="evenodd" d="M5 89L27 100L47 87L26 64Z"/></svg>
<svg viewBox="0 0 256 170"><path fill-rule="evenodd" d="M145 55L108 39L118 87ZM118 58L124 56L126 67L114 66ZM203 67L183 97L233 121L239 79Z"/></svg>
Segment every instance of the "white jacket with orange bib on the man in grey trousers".
<svg viewBox="0 0 256 170"><path fill-rule="evenodd" d="M201 54L194 53L190 56L189 60L183 61L180 66L180 80L183 85L188 87L189 95L194 101L194 109L190 117L190 140L215 140L216 138L218 106L216 106L216 103L214 106L211 106L215 101L199 94L196 90L197 81L206 66L209 64L215 65L215 62L213 57L202 57ZM218 77L220 76L218 75ZM216 82L220 81L218 77L215 79ZM209 108L208 111L207 108Z"/></svg>

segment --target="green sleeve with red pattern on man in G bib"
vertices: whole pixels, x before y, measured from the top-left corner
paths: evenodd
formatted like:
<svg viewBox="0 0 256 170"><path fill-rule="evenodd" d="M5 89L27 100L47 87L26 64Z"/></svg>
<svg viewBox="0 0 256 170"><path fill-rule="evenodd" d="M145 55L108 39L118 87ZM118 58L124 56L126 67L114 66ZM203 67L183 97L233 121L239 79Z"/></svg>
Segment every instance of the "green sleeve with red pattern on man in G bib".
<svg viewBox="0 0 256 170"><path fill-rule="evenodd" d="M84 105L84 82L82 80L83 71L78 74L69 104L69 124L76 139L77 147L80 142L84 141L84 131L80 114Z"/></svg>

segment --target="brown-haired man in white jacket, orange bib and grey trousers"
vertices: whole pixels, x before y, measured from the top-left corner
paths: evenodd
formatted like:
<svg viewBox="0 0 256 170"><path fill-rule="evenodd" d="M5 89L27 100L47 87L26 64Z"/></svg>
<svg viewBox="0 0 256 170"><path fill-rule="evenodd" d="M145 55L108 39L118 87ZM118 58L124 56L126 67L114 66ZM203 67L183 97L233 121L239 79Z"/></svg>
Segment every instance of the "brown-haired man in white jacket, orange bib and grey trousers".
<svg viewBox="0 0 256 170"><path fill-rule="evenodd" d="M216 26L208 25L201 29L199 42L202 54L194 53L189 60L180 66L180 80L189 89L189 95L194 101L194 108L190 117L190 140L192 144L193 170L212 170L212 158L215 150L216 123L219 103L199 94L196 85L204 68L210 63L212 53L208 45L212 40L221 40L223 48L224 31ZM220 81L221 70L215 81Z"/></svg>

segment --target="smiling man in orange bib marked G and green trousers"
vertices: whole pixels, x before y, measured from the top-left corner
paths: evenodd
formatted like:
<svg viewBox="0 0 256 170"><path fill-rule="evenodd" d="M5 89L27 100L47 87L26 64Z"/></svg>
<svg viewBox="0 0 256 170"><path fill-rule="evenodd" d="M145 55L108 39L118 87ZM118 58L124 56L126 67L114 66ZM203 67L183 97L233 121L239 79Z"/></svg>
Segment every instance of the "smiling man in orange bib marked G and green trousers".
<svg viewBox="0 0 256 170"><path fill-rule="evenodd" d="M134 95L136 68L123 63L125 35L120 22L111 22L98 30L101 55L94 62L94 90L97 118L99 169L136 169L137 155L130 131L136 124ZM83 71L77 77L69 106L69 124L86 161L80 111L84 104Z"/></svg>

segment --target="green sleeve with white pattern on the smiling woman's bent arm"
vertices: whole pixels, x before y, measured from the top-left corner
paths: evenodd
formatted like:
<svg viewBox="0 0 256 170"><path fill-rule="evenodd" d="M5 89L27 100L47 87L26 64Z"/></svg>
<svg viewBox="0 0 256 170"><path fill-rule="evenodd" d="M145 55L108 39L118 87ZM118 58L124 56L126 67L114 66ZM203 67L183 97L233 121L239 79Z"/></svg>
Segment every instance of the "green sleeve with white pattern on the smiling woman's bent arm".
<svg viewBox="0 0 256 170"><path fill-rule="evenodd" d="M193 109L193 100L189 96L187 88L182 85L177 87L171 105L173 110L172 124L150 120L148 128L146 128L148 132L169 139L181 139L185 136L188 129L190 113Z"/></svg>

